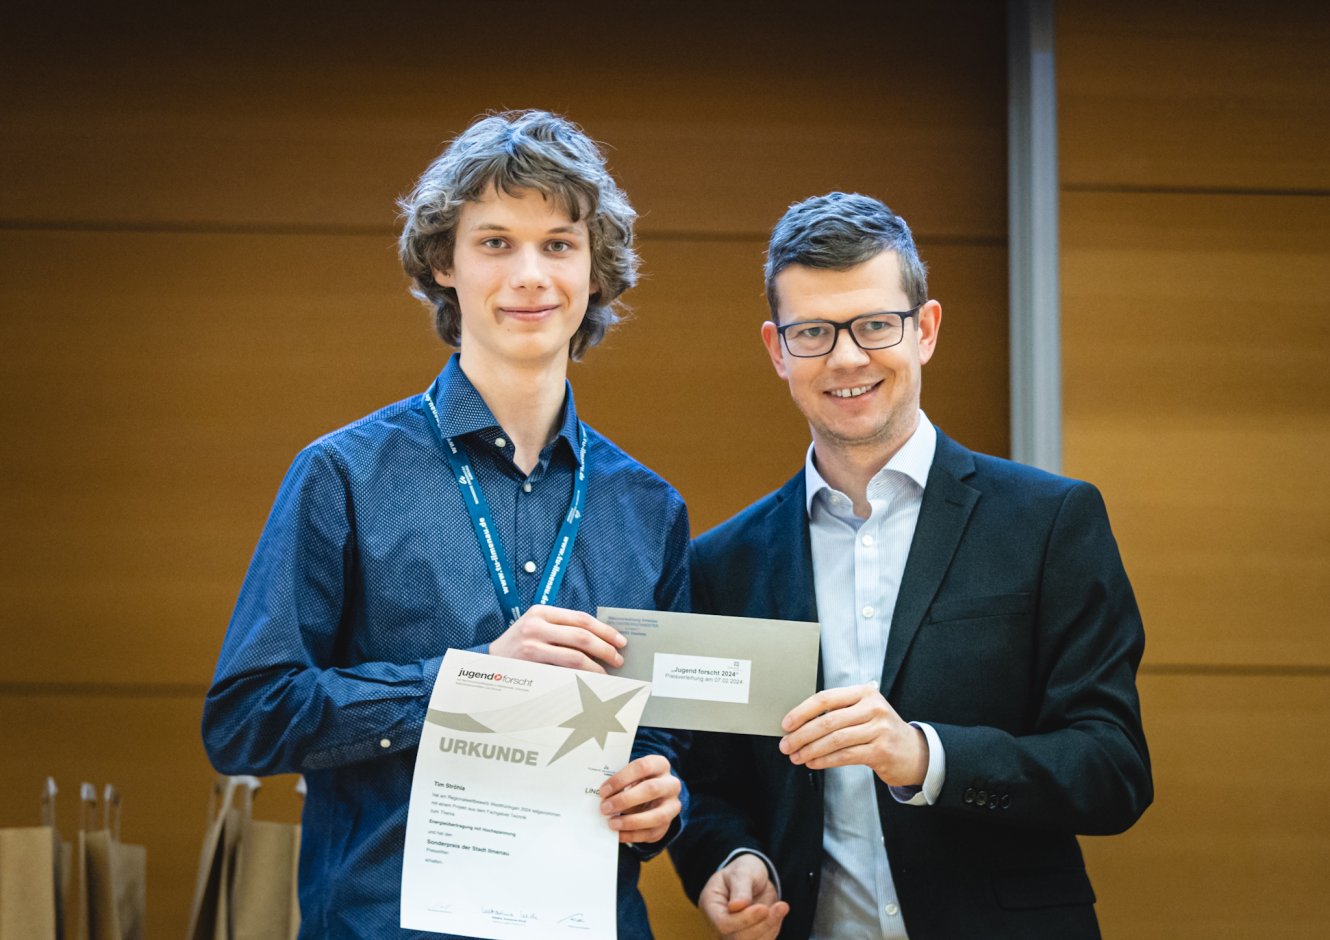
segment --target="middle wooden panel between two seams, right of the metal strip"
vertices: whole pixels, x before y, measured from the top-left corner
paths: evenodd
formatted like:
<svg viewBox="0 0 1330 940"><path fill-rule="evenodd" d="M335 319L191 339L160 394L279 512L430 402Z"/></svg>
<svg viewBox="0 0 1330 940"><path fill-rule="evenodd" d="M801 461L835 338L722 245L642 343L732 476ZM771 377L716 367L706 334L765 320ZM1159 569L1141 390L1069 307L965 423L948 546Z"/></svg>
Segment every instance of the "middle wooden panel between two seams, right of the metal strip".
<svg viewBox="0 0 1330 940"><path fill-rule="evenodd" d="M1067 469L1149 661L1330 665L1330 203L1068 193Z"/></svg>

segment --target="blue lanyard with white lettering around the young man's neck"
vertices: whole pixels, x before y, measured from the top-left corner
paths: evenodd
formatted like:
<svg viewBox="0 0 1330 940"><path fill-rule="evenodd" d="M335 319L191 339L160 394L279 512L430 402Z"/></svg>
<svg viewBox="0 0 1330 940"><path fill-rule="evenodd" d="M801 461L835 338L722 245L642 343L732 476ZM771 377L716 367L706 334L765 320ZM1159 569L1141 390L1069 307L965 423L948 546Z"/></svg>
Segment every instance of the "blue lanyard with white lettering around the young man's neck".
<svg viewBox="0 0 1330 940"><path fill-rule="evenodd" d="M462 501L471 516L471 528L476 532L480 550L489 561L489 581L493 582L495 596L511 625L521 617L521 598L517 597L517 582L504 556L499 532L492 525L493 515L489 512L489 503L485 500L484 491L480 489L467 452L458 447L456 440L444 435L443 421L439 420L439 412L435 410L430 394L426 392L422 399L428 406L430 413L434 415L439 439L443 441L448 463L452 465L452 479L458 481ZM568 569L567 558L573 550L573 542L577 541L577 529L581 528L581 509L587 499L587 429L581 421L577 421L577 448L579 465L573 477L573 497L568 503L568 512L564 513L564 521L559 527L559 537L555 538L555 544L549 549L549 558L545 561L545 570L540 576L536 590L536 604L549 604L552 598L559 596L559 585L564 582L564 572Z"/></svg>

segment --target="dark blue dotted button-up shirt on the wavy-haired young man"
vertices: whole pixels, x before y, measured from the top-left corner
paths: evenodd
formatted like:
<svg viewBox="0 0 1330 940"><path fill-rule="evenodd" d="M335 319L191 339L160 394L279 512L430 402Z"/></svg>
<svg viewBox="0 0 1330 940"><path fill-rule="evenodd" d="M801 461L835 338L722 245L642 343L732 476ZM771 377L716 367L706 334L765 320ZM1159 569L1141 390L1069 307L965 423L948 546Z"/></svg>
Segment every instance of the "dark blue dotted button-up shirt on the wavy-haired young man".
<svg viewBox="0 0 1330 940"><path fill-rule="evenodd" d="M458 356L428 395L471 457L529 604L572 496L572 388L531 475L513 464L512 441ZM416 395L297 456L203 706L203 743L221 772L305 774L302 937L442 936L399 928L416 745L444 650L488 651L507 622L432 421ZM553 602L592 614L686 609L678 493L589 427L587 464L581 532ZM664 754L676 766L685 743L642 729L633 757ZM620 848L622 940L650 937L637 870L658 848Z"/></svg>

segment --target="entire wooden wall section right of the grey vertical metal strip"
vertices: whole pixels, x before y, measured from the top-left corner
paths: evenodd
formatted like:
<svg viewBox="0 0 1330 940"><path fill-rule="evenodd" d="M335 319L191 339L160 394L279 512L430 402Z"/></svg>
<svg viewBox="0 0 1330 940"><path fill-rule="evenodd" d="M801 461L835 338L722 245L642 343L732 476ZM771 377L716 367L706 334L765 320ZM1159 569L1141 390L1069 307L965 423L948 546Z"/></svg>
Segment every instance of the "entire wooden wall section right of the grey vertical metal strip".
<svg viewBox="0 0 1330 940"><path fill-rule="evenodd" d="M1156 806L1105 936L1319 937L1330 709L1323 5L1057 5L1064 465L1141 601Z"/></svg>

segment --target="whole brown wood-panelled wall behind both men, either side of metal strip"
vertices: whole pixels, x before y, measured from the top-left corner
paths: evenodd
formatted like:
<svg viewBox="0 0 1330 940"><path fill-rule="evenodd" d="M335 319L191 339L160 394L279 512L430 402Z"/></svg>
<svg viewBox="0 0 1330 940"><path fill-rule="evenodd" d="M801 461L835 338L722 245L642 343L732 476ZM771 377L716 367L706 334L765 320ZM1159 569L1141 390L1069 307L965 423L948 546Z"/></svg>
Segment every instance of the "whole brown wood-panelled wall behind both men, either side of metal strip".
<svg viewBox="0 0 1330 940"><path fill-rule="evenodd" d="M394 199L488 109L567 113L641 213L579 408L694 532L793 473L758 342L790 202L883 198L946 328L924 408L1008 451L1003 4L388 3L0 13L0 826L114 782L185 928L202 694L309 440L447 356ZM1145 612L1157 804L1089 839L1105 935L1319 936L1330 858L1330 146L1307 4L1057 7L1065 469ZM294 778L257 815L295 819ZM668 864L661 937L705 932Z"/></svg>

